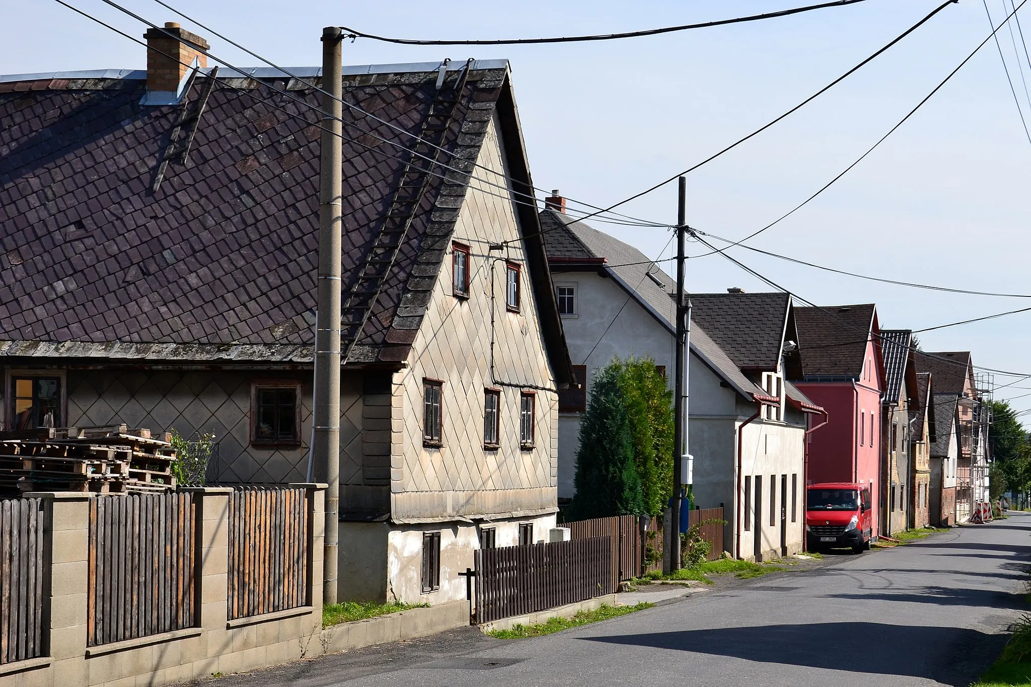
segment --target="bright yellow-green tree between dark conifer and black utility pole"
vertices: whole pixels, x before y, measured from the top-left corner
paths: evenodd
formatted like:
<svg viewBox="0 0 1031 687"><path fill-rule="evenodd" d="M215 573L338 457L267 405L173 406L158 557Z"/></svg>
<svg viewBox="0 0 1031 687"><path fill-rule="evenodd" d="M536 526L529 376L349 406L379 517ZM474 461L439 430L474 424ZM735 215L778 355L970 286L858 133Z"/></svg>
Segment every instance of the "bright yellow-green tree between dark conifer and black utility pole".
<svg viewBox="0 0 1031 687"><path fill-rule="evenodd" d="M651 357L612 358L630 419L644 513L659 516L673 494L673 392Z"/></svg>

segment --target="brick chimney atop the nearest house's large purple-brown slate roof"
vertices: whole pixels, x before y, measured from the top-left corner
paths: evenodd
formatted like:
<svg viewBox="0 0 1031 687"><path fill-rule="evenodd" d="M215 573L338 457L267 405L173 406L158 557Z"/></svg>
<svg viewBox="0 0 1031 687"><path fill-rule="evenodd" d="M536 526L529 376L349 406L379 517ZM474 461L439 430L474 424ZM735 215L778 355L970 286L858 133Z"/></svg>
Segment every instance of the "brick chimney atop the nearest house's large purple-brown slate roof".
<svg viewBox="0 0 1031 687"><path fill-rule="evenodd" d="M147 92L144 104L178 102L191 65L197 60L199 66L206 67L210 45L175 22L165 22L164 30L149 29L143 37L146 38Z"/></svg>

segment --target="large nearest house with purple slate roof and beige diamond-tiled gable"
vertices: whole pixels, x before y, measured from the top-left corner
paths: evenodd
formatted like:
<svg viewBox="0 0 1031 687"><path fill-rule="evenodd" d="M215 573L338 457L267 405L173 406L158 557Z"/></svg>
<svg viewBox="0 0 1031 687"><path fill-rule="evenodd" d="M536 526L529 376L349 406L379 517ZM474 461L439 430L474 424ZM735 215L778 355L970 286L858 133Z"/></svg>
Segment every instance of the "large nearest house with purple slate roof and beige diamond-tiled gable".
<svg viewBox="0 0 1031 687"><path fill-rule="evenodd" d="M319 70L217 76L146 37L145 72L0 77L7 426L213 433L220 482L308 481ZM508 65L343 73L339 596L464 598L473 549L555 524L572 375L537 209L508 191L532 185ZM388 219L408 229L361 305Z"/></svg>

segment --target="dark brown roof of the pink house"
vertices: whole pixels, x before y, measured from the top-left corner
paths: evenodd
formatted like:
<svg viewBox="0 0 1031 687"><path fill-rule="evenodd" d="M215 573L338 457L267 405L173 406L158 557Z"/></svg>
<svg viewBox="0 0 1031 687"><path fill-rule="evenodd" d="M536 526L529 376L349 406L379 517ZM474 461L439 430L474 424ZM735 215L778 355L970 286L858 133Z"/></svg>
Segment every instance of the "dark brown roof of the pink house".
<svg viewBox="0 0 1031 687"><path fill-rule="evenodd" d="M875 311L873 304L795 308L805 378L858 378L866 363Z"/></svg>

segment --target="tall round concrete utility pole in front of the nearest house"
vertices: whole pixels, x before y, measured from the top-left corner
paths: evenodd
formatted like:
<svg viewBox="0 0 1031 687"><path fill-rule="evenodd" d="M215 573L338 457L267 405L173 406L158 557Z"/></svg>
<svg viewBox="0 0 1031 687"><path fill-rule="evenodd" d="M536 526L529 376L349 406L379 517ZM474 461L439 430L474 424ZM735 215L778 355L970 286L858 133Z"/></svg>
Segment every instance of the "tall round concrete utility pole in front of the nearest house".
<svg viewBox="0 0 1031 687"><path fill-rule="evenodd" d="M326 488L323 604L336 604L337 531L340 502L340 232L343 226L343 67L341 31L323 29L322 151L319 171L318 328L311 455Z"/></svg>

